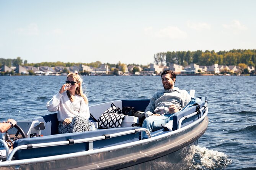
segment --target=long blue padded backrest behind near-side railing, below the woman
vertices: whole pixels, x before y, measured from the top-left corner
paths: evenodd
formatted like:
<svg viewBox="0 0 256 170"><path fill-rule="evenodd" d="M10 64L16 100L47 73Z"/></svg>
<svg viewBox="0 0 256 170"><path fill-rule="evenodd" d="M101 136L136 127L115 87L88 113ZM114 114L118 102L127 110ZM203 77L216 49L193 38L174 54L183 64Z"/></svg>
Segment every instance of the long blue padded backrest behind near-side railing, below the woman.
<svg viewBox="0 0 256 170"><path fill-rule="evenodd" d="M102 136L106 134L113 134L124 132L127 130L137 129L138 127L127 127L127 128L110 128L110 129L102 129L96 131L89 132L78 132L78 133L65 133L51 136L42 136L37 138L25 138L16 140L14 143L14 148L21 145L26 144L38 144L38 143L49 143L49 142L57 142L57 141L67 141L68 139L83 139L90 138L95 136ZM98 148L106 148L109 146L115 146L119 144L125 144L133 141L139 140L139 133L136 134L127 134L122 136L117 136L114 138L109 138L106 140L98 140L93 142L93 149ZM74 152L82 152L88 151L89 144L85 143L77 143L70 145L62 145L62 146L48 146L44 148L31 148L31 149L21 149L15 153L15 159L29 159L36 157L45 157L45 156L54 156L60 154L68 154Z"/></svg>

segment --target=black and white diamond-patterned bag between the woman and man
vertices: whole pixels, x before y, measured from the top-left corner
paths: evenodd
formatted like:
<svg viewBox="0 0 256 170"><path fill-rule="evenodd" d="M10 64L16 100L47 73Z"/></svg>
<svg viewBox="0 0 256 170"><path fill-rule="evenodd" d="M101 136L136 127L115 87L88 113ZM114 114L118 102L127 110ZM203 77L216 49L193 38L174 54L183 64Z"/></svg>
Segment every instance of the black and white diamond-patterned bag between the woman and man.
<svg viewBox="0 0 256 170"><path fill-rule="evenodd" d="M122 120L124 120L125 115L120 114L121 109L111 104L104 113L99 117L98 124L101 128L114 128L114 127L121 127Z"/></svg>

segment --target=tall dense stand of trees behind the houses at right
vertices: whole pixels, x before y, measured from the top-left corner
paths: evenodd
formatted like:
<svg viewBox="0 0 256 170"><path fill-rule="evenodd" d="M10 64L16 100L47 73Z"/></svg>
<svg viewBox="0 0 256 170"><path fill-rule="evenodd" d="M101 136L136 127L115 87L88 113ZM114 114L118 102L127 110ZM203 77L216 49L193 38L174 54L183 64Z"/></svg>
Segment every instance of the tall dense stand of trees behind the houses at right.
<svg viewBox="0 0 256 170"><path fill-rule="evenodd" d="M187 66L195 63L200 66L211 66L213 64L238 66L244 63L248 66L256 66L256 50L230 50L230 51L167 51L154 55L155 63L169 66L171 63Z"/></svg>

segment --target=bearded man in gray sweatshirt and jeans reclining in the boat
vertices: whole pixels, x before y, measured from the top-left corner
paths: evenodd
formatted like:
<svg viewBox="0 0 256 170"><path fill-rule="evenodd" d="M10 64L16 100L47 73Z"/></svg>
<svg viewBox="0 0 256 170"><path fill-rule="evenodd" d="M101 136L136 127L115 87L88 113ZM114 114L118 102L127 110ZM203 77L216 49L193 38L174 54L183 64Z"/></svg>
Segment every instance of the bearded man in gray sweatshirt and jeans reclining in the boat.
<svg viewBox="0 0 256 170"><path fill-rule="evenodd" d="M150 132L163 128L163 125L170 120L172 127L173 114L183 109L191 101L191 96L186 90L174 87L176 81L174 71L163 71L161 78L164 90L155 93L150 99L145 110L146 119L142 124L142 127L147 128ZM147 138L145 132L142 132L142 137Z"/></svg>

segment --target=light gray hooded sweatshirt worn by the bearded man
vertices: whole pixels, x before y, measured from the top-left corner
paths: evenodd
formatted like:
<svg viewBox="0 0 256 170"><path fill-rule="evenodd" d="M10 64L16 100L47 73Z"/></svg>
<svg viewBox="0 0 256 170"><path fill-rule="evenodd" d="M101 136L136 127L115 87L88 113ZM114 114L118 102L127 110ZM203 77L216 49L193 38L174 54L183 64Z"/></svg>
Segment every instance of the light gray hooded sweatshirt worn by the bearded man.
<svg viewBox="0 0 256 170"><path fill-rule="evenodd" d="M168 90L157 92L150 99L150 103L145 110L145 117L149 117L152 114L170 114L169 106L174 104L179 110L186 106L191 101L188 91L179 90L178 87L174 87Z"/></svg>

